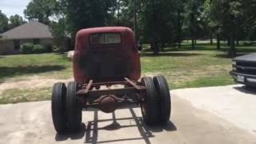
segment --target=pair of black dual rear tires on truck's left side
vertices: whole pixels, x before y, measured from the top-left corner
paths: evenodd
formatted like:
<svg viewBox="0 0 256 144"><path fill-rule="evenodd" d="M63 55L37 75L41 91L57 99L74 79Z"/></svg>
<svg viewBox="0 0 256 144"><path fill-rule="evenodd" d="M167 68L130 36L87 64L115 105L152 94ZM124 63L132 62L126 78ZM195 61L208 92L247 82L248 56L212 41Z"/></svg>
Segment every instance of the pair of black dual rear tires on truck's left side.
<svg viewBox="0 0 256 144"><path fill-rule="evenodd" d="M54 128L58 134L76 132L82 123L82 106L78 101L76 82L55 83L52 90L51 110Z"/></svg>

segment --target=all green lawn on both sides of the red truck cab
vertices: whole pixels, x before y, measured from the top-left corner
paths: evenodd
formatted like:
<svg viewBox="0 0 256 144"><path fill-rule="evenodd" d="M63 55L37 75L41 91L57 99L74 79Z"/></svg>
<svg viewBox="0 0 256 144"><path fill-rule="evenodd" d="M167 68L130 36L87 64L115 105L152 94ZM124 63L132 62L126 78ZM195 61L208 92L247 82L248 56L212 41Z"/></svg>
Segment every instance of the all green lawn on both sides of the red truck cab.
<svg viewBox="0 0 256 144"><path fill-rule="evenodd" d="M164 75L171 89L225 86L234 84L229 75L231 58L226 56L227 46L222 50L215 46L199 43L191 50L189 43L182 43L182 49L166 47L155 56L148 45L142 51L142 75ZM255 52L256 46L239 46L239 53ZM31 76L40 78L71 78L72 65L64 54L29 54L0 56L0 83L10 79L26 80ZM0 103L27 102L50 98L50 86L37 90L6 90L0 96ZM16 99L15 99L16 98Z"/></svg>

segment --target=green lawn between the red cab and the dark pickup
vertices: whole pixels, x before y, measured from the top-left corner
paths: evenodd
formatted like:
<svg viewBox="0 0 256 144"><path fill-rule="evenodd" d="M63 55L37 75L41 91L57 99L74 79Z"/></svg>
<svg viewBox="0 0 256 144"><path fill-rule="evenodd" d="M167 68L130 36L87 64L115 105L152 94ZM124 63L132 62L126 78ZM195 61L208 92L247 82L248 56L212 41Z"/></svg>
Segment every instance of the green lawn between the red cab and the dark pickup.
<svg viewBox="0 0 256 144"><path fill-rule="evenodd" d="M232 58L227 56L227 50L224 43L221 50L216 50L215 45L200 41L195 50L183 42L182 49L166 47L158 56L144 48L142 73L164 75L171 89L234 84L229 75ZM238 54L255 51L256 46L238 46Z"/></svg>

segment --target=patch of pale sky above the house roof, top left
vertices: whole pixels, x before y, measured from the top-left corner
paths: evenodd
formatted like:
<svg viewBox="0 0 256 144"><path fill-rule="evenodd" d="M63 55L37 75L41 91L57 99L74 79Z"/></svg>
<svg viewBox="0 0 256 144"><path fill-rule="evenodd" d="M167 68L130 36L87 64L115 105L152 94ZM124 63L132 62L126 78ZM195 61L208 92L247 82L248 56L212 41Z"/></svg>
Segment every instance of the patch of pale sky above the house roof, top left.
<svg viewBox="0 0 256 144"><path fill-rule="evenodd" d="M0 10L8 18L14 14L18 14L24 18L23 10L26 9L29 2L30 0L0 0Z"/></svg>

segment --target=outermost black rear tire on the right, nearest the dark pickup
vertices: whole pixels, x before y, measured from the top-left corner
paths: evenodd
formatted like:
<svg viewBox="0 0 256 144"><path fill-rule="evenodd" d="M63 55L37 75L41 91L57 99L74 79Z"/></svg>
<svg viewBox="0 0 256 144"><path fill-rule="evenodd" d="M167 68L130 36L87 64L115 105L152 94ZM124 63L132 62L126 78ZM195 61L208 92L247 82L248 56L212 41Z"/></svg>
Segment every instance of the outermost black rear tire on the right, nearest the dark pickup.
<svg viewBox="0 0 256 144"><path fill-rule="evenodd" d="M170 121L171 100L170 90L166 78L162 76L154 77L154 86L158 93L159 121L166 124Z"/></svg>

